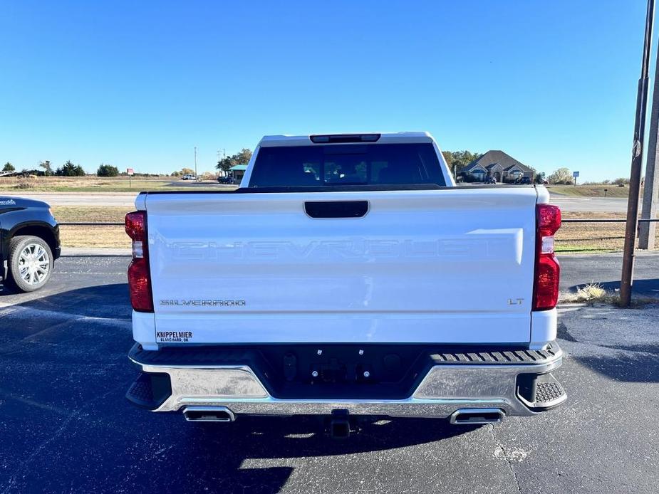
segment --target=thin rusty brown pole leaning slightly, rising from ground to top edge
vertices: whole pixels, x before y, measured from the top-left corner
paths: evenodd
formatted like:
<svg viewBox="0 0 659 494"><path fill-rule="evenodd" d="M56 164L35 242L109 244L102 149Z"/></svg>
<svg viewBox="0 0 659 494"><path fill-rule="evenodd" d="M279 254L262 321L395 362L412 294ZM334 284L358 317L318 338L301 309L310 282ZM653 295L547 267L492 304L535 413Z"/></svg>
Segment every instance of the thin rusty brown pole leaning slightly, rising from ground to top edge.
<svg viewBox="0 0 659 494"><path fill-rule="evenodd" d="M655 16L655 0L648 0L645 16L645 36L643 38L643 59L640 66L638 91L636 94L636 118L634 123L634 143L632 147L631 174L629 177L629 199L627 201L627 224L625 228L625 248L623 251L623 271L620 283L620 305L629 307L634 276L634 248L638 228L638 196L640 195L640 172L643 164L643 137L645 135L645 112L648 107L648 85L650 77L650 48Z"/></svg>

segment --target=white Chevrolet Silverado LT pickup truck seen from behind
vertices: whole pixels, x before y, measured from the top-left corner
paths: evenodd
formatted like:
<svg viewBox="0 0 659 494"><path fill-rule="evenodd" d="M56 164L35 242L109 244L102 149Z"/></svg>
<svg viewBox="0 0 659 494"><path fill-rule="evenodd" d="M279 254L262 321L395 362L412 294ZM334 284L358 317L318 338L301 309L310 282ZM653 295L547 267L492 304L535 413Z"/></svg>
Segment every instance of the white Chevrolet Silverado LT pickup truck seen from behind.
<svg viewBox="0 0 659 494"><path fill-rule="evenodd" d="M329 416L335 436L554 408L548 200L455 186L426 132L264 137L235 191L142 192L127 397L190 421Z"/></svg>

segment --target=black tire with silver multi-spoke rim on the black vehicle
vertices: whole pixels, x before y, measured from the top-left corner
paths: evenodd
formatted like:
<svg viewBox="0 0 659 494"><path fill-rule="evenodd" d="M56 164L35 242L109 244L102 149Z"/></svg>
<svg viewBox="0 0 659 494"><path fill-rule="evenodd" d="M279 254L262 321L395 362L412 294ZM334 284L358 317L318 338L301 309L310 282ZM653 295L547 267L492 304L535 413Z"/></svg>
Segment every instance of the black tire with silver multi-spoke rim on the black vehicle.
<svg viewBox="0 0 659 494"><path fill-rule="evenodd" d="M21 292L33 292L48 283L53 273L53 252L43 238L19 235L9 241L9 284Z"/></svg>

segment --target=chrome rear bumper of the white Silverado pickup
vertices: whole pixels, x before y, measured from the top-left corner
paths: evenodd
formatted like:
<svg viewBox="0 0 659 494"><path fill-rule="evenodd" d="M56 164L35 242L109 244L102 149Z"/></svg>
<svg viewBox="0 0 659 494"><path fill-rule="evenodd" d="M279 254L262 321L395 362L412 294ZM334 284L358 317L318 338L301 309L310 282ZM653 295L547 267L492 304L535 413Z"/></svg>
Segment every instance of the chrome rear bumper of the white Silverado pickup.
<svg viewBox="0 0 659 494"><path fill-rule="evenodd" d="M487 352L488 356L496 357L489 362L482 357L484 353L440 354L441 358L435 360L438 363L405 399L279 399L267 391L248 366L145 362L140 359L143 353L135 345L129 358L142 372L167 374L170 381L170 394L153 411L222 406L235 416L329 415L342 410L354 415L447 418L459 409L475 408L499 409L510 416L529 416L554 408L566 399L562 387L550 374L561 366L563 357L555 342L549 351ZM531 376L531 379L540 376L544 380L542 384L558 386L560 392L549 396L549 400L546 394L539 392L544 402L536 403L528 394L522 396L521 376ZM535 391L532 396L536 396Z"/></svg>

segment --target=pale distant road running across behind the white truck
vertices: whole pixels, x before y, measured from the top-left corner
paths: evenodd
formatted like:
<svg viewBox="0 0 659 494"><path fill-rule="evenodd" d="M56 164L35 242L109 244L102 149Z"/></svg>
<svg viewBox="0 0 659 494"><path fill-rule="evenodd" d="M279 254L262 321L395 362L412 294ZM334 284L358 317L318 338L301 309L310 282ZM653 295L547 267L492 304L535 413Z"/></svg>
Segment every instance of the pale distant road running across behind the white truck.
<svg viewBox="0 0 659 494"><path fill-rule="evenodd" d="M22 196L46 201L51 206L132 206L137 192L1 192L0 196ZM624 212L627 199L618 197L551 196L551 204L563 211Z"/></svg>

